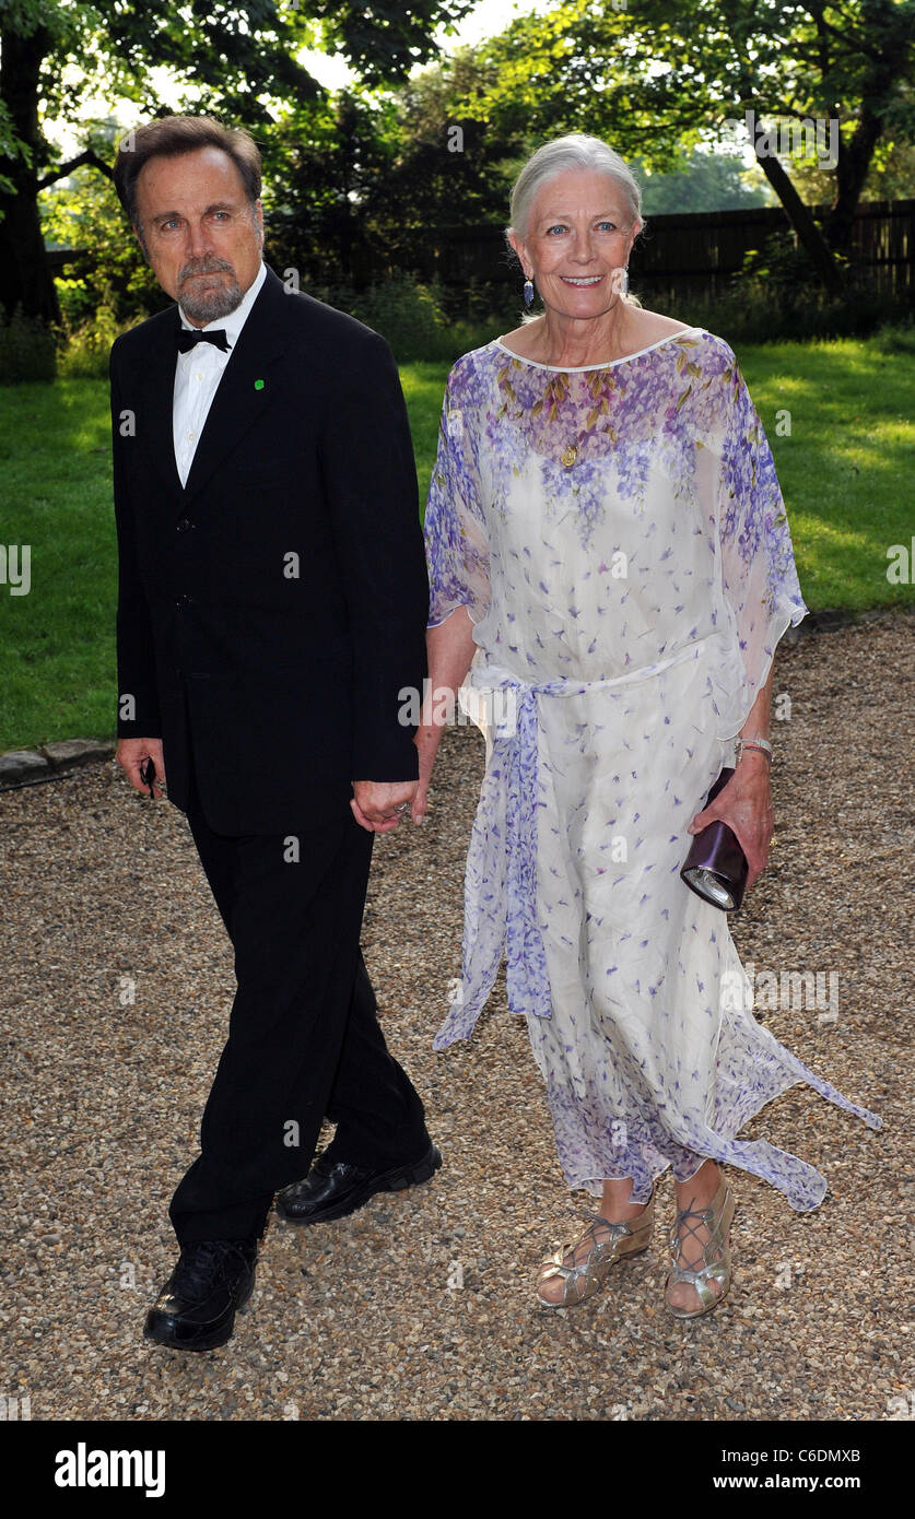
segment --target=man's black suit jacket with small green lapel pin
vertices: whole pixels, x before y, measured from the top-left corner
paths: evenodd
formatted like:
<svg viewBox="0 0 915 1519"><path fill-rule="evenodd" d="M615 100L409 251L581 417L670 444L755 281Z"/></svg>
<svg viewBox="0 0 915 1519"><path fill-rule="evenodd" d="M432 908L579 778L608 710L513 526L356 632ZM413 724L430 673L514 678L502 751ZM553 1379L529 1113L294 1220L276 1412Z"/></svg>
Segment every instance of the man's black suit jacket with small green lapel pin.
<svg viewBox="0 0 915 1519"><path fill-rule="evenodd" d="M295 832L353 781L418 775L403 687L427 674L429 580L388 343L272 270L175 465L178 307L111 349L120 737L188 746L217 832Z"/></svg>

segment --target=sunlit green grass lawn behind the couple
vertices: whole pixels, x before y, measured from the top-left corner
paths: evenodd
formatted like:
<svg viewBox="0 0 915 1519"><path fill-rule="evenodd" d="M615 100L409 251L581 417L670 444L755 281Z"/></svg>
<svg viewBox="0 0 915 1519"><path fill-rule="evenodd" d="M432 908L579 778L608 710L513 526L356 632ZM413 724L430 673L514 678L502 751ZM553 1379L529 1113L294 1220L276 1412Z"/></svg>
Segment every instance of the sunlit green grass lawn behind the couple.
<svg viewBox="0 0 915 1519"><path fill-rule="evenodd" d="M742 348L772 444L812 611L912 603L886 580L910 544L912 351L880 339ZM401 371L420 500L435 460L447 365ZM790 410L790 436L775 413ZM32 545L29 595L0 583L0 752L114 732L116 541L108 387L100 380L0 387L0 542Z"/></svg>

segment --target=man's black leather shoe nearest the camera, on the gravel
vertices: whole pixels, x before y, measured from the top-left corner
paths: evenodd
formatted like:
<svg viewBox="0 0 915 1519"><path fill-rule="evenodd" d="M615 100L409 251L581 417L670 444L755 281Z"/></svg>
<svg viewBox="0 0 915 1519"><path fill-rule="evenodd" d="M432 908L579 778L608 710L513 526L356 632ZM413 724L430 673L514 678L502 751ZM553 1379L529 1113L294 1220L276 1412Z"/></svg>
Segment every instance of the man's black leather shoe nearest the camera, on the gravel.
<svg viewBox="0 0 915 1519"><path fill-rule="evenodd" d="M231 1338L254 1291L257 1238L204 1240L181 1258L146 1315L143 1338L172 1350L213 1350Z"/></svg>

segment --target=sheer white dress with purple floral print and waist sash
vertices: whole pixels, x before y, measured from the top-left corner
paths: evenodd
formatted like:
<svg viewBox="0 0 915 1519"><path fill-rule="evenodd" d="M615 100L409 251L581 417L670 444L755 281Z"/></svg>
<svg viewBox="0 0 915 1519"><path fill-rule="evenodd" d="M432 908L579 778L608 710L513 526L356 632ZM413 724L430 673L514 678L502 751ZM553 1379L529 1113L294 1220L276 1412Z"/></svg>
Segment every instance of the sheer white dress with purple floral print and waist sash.
<svg viewBox="0 0 915 1519"><path fill-rule="evenodd" d="M792 1208L825 1179L749 1118L796 1082L880 1118L752 1013L723 911L679 869L775 644L807 608L760 418L731 348L687 328L597 368L500 342L448 377L426 512L429 626L467 605L462 690L486 737L462 978L470 1037L503 955L570 1188L713 1157Z"/></svg>

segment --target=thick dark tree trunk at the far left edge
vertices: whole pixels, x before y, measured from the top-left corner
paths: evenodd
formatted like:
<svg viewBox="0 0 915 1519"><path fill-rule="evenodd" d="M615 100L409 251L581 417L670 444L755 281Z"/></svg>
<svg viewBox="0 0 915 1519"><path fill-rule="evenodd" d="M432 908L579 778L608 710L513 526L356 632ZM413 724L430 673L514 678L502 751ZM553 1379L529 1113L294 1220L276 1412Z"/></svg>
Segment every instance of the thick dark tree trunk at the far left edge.
<svg viewBox="0 0 915 1519"><path fill-rule="evenodd" d="M47 161L47 143L38 125L38 82L50 41L41 27L32 36L6 30L2 38L0 99L32 163L0 155L0 175L12 181L15 191L0 190L0 302L8 313L18 305L26 316L53 324L61 321L61 308L38 216L38 176Z"/></svg>

